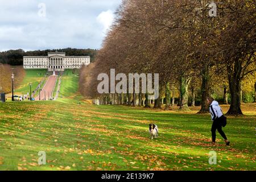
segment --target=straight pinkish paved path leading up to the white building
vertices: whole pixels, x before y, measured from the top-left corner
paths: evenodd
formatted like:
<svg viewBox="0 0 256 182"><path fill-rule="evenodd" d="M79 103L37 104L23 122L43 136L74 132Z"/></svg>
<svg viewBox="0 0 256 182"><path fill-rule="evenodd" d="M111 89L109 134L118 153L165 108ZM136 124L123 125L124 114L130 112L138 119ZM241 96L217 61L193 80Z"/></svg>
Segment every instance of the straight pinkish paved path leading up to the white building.
<svg viewBox="0 0 256 182"><path fill-rule="evenodd" d="M41 101L43 101L43 100L48 101L49 98L52 97L52 91L54 91L53 88L55 86L57 77L58 76L53 76L53 75L49 76L49 78L46 82L46 85L44 85L44 88L40 92ZM44 96L46 96L46 97L44 97ZM35 98L35 100L39 101L39 95Z"/></svg>

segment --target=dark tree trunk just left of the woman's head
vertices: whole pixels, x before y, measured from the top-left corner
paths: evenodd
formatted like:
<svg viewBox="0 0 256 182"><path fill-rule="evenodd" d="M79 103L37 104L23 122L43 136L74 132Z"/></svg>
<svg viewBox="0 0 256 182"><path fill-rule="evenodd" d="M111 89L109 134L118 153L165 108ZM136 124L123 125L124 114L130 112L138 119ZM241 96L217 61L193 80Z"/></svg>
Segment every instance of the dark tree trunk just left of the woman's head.
<svg viewBox="0 0 256 182"><path fill-rule="evenodd" d="M201 85L201 110L199 113L209 113L209 105L207 98L210 96L210 71L209 66L204 68L201 72L202 85Z"/></svg>

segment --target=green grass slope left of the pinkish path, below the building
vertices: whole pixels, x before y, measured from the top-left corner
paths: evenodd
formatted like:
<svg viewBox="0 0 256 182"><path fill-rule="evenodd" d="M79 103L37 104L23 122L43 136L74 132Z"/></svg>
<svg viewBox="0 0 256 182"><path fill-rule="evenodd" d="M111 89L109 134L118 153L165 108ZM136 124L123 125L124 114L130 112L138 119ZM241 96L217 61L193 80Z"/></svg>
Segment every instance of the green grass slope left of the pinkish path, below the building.
<svg viewBox="0 0 256 182"><path fill-rule="evenodd" d="M22 92L24 94L27 94L30 92L30 82L32 82L31 90L36 89L40 81L43 80L44 75L46 74L46 69L25 69L26 76L24 77L24 80L19 85L19 88L15 89L15 94L22 95Z"/></svg>

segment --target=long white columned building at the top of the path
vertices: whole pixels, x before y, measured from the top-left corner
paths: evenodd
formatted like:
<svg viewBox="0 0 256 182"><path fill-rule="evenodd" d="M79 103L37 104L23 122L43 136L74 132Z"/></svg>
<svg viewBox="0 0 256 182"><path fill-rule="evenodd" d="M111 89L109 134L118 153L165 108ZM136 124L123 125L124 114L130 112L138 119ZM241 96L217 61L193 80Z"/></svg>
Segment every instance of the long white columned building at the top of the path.
<svg viewBox="0 0 256 182"><path fill-rule="evenodd" d="M48 71L64 71L64 69L81 68L90 64L90 56L66 56L65 52L48 52L48 56L24 56L24 69L48 69Z"/></svg>

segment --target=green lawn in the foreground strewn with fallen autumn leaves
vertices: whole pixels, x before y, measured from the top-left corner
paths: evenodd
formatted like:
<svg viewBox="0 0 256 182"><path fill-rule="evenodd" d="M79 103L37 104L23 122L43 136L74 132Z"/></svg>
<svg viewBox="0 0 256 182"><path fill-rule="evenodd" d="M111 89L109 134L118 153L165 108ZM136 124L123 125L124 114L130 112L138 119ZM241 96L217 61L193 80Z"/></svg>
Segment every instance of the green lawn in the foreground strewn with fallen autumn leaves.
<svg viewBox="0 0 256 182"><path fill-rule="evenodd" d="M246 110L255 105L245 106ZM225 108L225 107L224 107ZM195 108L196 109L196 108ZM96 106L68 98L0 104L0 170L255 170L255 118L229 118L210 145L209 115ZM148 123L159 126L151 140ZM38 166L38 152L47 164ZM209 165L209 152L217 165Z"/></svg>

